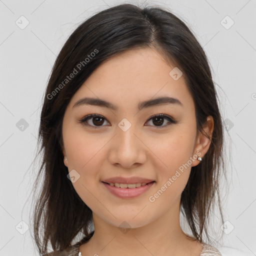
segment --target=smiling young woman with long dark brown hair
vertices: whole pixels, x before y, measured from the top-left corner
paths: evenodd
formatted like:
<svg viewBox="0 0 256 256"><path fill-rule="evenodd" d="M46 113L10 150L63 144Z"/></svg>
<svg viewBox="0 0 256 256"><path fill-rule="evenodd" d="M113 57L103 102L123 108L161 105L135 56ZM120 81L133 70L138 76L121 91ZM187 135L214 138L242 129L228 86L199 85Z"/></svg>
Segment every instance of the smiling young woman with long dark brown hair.
<svg viewBox="0 0 256 256"><path fill-rule="evenodd" d="M121 4L80 24L41 111L40 255L221 255L206 226L224 171L216 98L202 47L168 10Z"/></svg>

